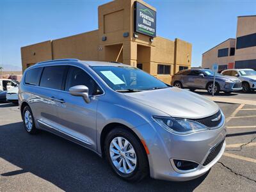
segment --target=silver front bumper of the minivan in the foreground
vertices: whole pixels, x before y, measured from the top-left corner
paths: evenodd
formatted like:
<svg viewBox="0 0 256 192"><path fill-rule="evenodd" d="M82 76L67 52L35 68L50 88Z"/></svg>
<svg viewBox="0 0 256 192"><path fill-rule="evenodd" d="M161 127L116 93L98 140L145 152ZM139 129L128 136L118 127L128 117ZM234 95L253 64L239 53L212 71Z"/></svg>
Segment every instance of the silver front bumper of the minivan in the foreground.
<svg viewBox="0 0 256 192"><path fill-rule="evenodd" d="M150 126L150 127L148 127ZM192 180L207 173L218 162L225 150L225 124L218 129L177 135L163 129L156 122L134 128L148 147L150 176L154 179L185 181ZM204 165L211 149L221 143L218 154L211 162ZM198 166L191 170L179 170L173 159L191 161Z"/></svg>

